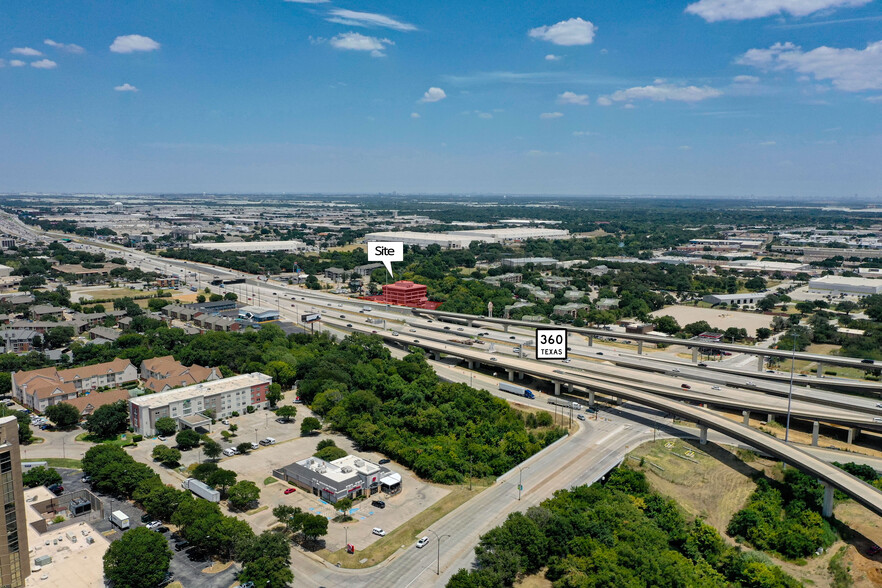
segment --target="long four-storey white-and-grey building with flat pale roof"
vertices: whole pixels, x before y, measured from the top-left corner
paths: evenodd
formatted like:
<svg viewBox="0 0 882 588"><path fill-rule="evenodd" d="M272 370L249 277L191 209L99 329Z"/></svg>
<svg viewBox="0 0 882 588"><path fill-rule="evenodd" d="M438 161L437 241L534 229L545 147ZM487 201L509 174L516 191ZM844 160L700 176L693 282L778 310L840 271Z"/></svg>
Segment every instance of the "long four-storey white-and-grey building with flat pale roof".
<svg viewBox="0 0 882 588"><path fill-rule="evenodd" d="M159 394L146 394L129 400L129 420L136 433L156 434L156 421L171 417L180 428L208 428L211 417L229 417L233 411L245 412L249 406L266 406L266 393L273 379L253 372L212 382L177 388Z"/></svg>

